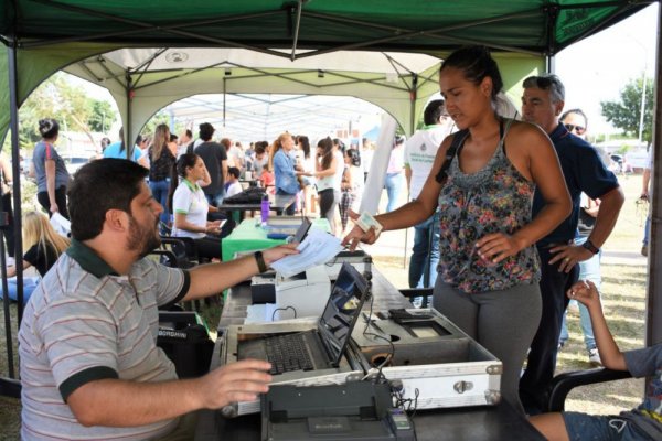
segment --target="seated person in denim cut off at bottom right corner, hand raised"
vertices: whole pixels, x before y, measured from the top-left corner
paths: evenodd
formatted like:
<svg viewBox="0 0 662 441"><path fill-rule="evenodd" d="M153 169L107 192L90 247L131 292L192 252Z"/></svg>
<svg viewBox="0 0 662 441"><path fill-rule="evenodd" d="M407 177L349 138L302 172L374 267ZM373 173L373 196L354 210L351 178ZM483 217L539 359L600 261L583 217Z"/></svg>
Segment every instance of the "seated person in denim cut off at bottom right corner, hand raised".
<svg viewBox="0 0 662 441"><path fill-rule="evenodd" d="M607 327L596 286L591 281L577 282L568 297L588 309L605 367L629 370L633 377L651 376L652 383L645 400L631 411L618 416L543 413L531 417L531 423L548 440L662 439L662 344L622 353Z"/></svg>

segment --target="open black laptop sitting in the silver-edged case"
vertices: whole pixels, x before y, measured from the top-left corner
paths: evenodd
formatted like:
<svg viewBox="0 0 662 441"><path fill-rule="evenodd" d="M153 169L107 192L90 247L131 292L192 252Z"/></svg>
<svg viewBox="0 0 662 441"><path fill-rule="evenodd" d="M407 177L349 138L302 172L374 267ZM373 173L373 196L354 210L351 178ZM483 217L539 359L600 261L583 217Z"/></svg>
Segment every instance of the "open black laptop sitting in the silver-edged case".
<svg viewBox="0 0 662 441"><path fill-rule="evenodd" d="M367 288L363 276L343 263L314 330L238 342L237 359L267 359L274 376L340 366Z"/></svg>

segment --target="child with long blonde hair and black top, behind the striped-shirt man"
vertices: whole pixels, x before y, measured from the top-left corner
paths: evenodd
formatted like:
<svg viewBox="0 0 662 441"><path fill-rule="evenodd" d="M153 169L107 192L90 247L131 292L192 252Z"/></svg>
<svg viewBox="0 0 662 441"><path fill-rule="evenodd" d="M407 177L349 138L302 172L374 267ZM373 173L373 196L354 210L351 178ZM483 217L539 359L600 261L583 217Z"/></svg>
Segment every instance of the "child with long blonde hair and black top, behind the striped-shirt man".
<svg viewBox="0 0 662 441"><path fill-rule="evenodd" d="M28 303L32 291L36 288L41 277L44 277L55 263L61 254L70 246L70 240L60 236L49 222L49 218L38 212L28 212L23 216L23 247L28 249L23 255L23 270L35 267L40 277L23 278L23 302ZM17 300L17 268L7 267L9 298Z"/></svg>

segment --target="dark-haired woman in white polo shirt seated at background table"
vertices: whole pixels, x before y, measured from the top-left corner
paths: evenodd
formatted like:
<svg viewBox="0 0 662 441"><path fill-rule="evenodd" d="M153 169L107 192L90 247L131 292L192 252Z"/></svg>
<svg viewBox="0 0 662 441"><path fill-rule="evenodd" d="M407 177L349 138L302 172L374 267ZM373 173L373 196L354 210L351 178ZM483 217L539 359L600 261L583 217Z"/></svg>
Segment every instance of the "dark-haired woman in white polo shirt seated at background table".
<svg viewBox="0 0 662 441"><path fill-rule="evenodd" d="M174 225L172 236L191 237L195 241L197 256L221 258L221 220L209 222L210 212L218 208L209 204L200 184L210 183L211 178L204 161L195 153L184 153L173 168L172 182L181 178L172 195Z"/></svg>

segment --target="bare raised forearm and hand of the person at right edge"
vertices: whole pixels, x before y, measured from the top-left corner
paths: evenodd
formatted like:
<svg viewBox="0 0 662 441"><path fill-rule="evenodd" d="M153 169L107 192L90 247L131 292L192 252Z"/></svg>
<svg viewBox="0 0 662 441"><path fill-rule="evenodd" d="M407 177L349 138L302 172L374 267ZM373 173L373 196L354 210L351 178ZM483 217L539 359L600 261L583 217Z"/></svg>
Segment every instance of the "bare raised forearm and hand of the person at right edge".
<svg viewBox="0 0 662 441"><path fill-rule="evenodd" d="M575 283L568 290L568 297L576 299L588 309L602 365L615 370L628 370L626 357L613 341L609 326L607 326L600 295L594 282L586 280Z"/></svg>

